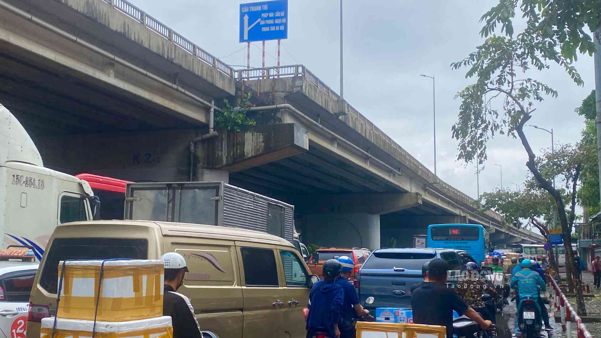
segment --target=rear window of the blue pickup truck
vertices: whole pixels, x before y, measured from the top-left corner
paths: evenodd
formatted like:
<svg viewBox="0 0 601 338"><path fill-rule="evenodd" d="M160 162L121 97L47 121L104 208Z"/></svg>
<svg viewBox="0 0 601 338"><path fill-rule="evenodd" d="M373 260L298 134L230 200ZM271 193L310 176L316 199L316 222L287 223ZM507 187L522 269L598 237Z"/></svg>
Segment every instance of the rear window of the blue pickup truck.
<svg viewBox="0 0 601 338"><path fill-rule="evenodd" d="M435 253L394 253L374 252L363 265L364 269L392 269L403 268L406 270L421 270L424 263L436 258ZM321 255L320 255L321 259Z"/></svg>

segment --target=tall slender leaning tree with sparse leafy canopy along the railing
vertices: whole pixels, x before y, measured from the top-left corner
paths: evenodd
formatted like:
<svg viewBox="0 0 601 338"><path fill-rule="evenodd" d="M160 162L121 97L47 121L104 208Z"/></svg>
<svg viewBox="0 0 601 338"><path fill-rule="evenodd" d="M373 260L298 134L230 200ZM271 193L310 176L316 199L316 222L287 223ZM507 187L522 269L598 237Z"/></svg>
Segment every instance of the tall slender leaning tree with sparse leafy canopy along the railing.
<svg viewBox="0 0 601 338"><path fill-rule="evenodd" d="M542 71L550 67L549 63L555 63L564 68L575 84L583 85L572 61L579 52L592 55L595 51L584 27L593 31L597 29L599 8L601 0L499 0L498 5L481 17L481 22L484 22L481 35L486 37L484 43L465 59L451 64L454 69L468 67L466 78L475 78L473 84L457 94L462 103L452 132L453 137L459 140L458 159L466 162L477 159L483 164L487 158L486 143L495 134L520 138L528 154L526 167L538 188L548 191L555 201L563 240L567 244L569 274L574 271L574 254L570 245L574 216L572 214L568 219L561 192L537 167L537 157L523 130L537 110L536 104L545 96L557 97L558 93L543 82L525 76L525 73L531 69ZM514 36L516 9L525 17L526 26ZM498 25L501 25L503 35L495 35ZM553 171L558 169L555 165L551 167ZM581 168L581 164L569 170L563 167L567 182L573 183L573 191L576 191ZM574 289L571 279L569 282L570 289ZM578 313L585 315L584 297L579 287L581 282L577 283Z"/></svg>

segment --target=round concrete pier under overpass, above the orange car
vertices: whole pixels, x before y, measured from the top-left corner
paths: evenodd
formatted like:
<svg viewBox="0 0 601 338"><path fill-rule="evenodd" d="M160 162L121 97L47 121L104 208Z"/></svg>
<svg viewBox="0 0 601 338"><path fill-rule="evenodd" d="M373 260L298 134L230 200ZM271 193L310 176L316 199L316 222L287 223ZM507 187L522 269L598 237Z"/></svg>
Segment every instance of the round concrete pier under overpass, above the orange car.
<svg viewBox="0 0 601 338"><path fill-rule="evenodd" d="M301 231L306 245L380 248L380 215L377 214L309 214L299 223L297 230Z"/></svg>

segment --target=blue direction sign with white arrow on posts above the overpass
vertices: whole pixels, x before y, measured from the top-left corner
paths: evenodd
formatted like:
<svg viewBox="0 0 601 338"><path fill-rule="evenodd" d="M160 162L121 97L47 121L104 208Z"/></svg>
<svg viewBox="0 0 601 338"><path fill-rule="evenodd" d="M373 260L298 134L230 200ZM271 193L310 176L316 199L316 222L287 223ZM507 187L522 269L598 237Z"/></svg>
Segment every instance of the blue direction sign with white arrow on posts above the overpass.
<svg viewBox="0 0 601 338"><path fill-rule="evenodd" d="M240 42L288 38L288 0L240 4Z"/></svg>

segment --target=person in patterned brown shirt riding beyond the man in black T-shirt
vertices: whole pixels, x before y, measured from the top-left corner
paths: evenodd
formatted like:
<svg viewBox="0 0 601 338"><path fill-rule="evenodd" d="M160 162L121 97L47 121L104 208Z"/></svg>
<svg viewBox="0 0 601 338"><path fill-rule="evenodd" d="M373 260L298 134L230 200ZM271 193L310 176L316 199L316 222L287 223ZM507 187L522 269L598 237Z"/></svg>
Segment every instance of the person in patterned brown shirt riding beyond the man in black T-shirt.
<svg viewBox="0 0 601 338"><path fill-rule="evenodd" d="M493 312L490 312L482 300L482 295L486 292L492 297L496 297L498 293L487 281L478 278L478 265L476 263L466 263L466 268L468 270L467 275L465 278L457 281L455 290L472 309L480 313L484 319L488 319L495 324L495 315L493 313L495 309L493 309Z"/></svg>

